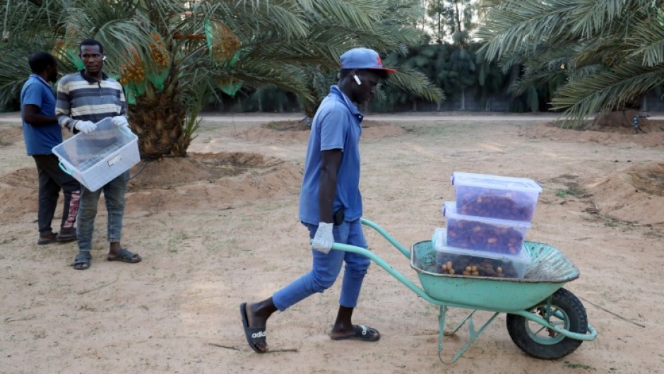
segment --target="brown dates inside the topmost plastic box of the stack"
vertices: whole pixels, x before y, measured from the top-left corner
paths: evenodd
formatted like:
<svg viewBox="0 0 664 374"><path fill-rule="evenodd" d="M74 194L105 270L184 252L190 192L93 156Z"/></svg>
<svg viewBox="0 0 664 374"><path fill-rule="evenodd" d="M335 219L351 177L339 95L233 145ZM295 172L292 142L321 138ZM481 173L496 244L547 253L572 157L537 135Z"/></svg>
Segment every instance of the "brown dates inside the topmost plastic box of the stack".
<svg viewBox="0 0 664 374"><path fill-rule="evenodd" d="M533 200L533 198L535 200ZM466 216L531 221L537 195L518 191L500 192L481 187L456 187L456 210Z"/></svg>

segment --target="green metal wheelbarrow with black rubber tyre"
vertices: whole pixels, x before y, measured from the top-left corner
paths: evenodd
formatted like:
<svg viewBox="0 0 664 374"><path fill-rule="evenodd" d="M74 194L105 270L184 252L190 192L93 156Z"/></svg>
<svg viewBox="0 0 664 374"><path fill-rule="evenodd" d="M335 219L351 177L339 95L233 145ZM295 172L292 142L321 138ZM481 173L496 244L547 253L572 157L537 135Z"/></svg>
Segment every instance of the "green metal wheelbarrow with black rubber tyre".
<svg viewBox="0 0 664 374"><path fill-rule="evenodd" d="M406 258L420 277L420 288L391 267L374 252L353 245L334 243L334 250L355 252L369 257L421 298L439 305L438 356L442 363L453 363L502 312L507 314L507 331L512 341L537 358L561 358L575 351L585 340L594 340L597 330L588 324L586 309L573 293L562 288L579 278L579 269L559 250L538 242L524 242L531 262L523 278L494 278L439 274L437 253L431 240L416 242L408 251L376 223L362 219L364 226L377 230ZM472 310L451 332L445 332L449 308ZM475 329L473 315L478 310L494 312L480 329ZM452 358L443 358L444 335L454 334L468 324L470 339Z"/></svg>

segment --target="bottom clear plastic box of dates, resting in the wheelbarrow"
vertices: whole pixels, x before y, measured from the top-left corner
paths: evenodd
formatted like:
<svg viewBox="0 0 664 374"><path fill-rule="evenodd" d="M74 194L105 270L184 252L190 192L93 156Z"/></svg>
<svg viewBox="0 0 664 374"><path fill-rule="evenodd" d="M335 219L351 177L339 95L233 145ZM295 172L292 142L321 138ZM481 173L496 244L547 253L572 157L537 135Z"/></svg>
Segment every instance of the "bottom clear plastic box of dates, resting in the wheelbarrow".
<svg viewBox="0 0 664 374"><path fill-rule="evenodd" d="M530 264L530 255L525 249L518 255L508 255L450 247L442 228L434 231L432 242L438 274L523 278Z"/></svg>

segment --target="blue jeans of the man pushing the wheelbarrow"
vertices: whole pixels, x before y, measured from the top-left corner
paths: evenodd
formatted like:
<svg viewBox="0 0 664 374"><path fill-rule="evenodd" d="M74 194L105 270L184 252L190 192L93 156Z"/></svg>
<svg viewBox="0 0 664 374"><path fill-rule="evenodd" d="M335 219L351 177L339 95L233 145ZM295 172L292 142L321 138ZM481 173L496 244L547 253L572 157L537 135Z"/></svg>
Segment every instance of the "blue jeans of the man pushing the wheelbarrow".
<svg viewBox="0 0 664 374"><path fill-rule="evenodd" d="M308 223L303 224L309 229L309 238L314 238L318 226L309 225ZM364 239L362 223L359 219L334 226L332 234L335 242L367 248L367 240ZM300 302L300 300L304 300L304 298L314 293L322 293L330 288L339 276L343 262L346 263L346 266L343 283L341 284L339 304L347 308L355 308L357 298L360 296L364 274L367 274L371 260L357 253L340 250L331 250L327 255L312 250L312 255L314 256L312 271L281 288L272 296L277 309L283 312L290 306Z"/></svg>

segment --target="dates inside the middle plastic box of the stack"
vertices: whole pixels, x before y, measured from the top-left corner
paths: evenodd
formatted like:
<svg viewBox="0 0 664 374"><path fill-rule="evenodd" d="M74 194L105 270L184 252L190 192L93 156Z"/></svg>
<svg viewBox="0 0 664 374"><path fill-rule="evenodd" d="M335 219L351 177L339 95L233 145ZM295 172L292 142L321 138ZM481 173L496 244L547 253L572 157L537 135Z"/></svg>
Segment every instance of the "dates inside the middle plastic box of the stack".
<svg viewBox="0 0 664 374"><path fill-rule="evenodd" d="M511 227L448 218L447 245L466 250L518 255L523 247L523 233Z"/></svg>

